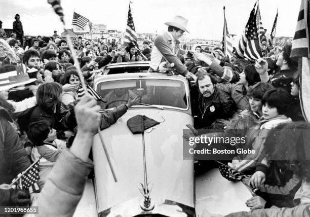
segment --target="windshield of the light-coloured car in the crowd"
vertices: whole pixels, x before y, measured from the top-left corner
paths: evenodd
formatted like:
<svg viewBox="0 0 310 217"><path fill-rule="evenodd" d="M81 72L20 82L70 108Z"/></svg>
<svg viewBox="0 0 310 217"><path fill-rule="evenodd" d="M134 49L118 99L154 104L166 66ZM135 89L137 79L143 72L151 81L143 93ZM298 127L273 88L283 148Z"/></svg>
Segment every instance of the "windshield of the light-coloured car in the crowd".
<svg viewBox="0 0 310 217"><path fill-rule="evenodd" d="M125 104L128 97L140 97L140 102L186 109L187 96L182 81L164 79L130 79L106 81L97 86L97 92L106 103L101 108ZM143 106L143 105L139 105Z"/></svg>

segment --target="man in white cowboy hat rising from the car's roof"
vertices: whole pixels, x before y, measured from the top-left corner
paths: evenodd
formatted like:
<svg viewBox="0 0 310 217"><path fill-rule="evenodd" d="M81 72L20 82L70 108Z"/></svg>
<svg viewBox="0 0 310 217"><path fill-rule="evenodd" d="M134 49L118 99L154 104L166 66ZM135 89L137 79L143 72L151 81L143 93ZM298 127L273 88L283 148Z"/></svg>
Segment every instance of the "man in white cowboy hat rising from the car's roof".
<svg viewBox="0 0 310 217"><path fill-rule="evenodd" d="M175 41L183 35L186 29L188 20L181 16L174 16L171 22L166 22L168 31L159 35L154 40L154 46L151 53L150 71L158 70L158 67L162 61L168 61L174 63L176 71L186 77L191 78L186 67L182 64L181 60L175 54ZM188 32L189 33L189 32Z"/></svg>

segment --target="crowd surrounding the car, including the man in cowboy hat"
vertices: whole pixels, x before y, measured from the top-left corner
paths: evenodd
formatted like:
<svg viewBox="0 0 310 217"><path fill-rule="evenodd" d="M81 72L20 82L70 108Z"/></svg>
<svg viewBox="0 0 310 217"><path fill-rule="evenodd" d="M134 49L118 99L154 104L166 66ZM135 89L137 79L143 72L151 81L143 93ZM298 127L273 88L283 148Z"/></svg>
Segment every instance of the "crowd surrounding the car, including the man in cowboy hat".
<svg viewBox="0 0 310 217"><path fill-rule="evenodd" d="M310 161L296 159L308 155L305 152L308 148L293 147L296 142L292 139L296 136L287 135L285 130L309 129L310 125L301 112L300 72L298 63L290 58L290 43L265 49L266 57L253 62L228 58L221 47L208 52L201 47L196 52L186 50L186 45L179 44L179 38L184 31L188 32L187 20L180 16L167 22L167 31L153 43L144 41L141 51L133 43L124 45L114 40L82 37L65 39L57 31L52 36L25 39L20 16L16 14L15 19L10 35L2 29L0 21L1 206L29 204L27 193L6 189L6 184L40 159L38 185L43 190L34 202L44 207L40 214L52 213L47 208L51 192L58 192L60 198L68 200L61 203L53 198L53 204L60 207L53 209L54 214L72 214L92 169L88 156L96 127L105 129L114 124L139 101L137 94L129 94L124 99L126 104L120 103L114 110L99 114L100 106L84 92L82 83L91 83L97 70L109 63L150 60L150 73L161 73L160 65L166 61L173 63L173 74L189 81L194 125L188 125L191 133L183 135L184 138L199 136L201 129L222 133L226 129L239 129L250 135L247 147L257 154L235 156L228 165L251 175L245 184L262 194L246 202L253 211L231 216L304 214L305 205L310 203ZM69 49L69 43L73 50ZM280 130L276 138L270 134L273 129ZM67 171L61 166L65 163L74 169ZM196 165L197 171L206 170L206 163L198 161ZM70 175L76 177L76 183ZM66 188L70 191L66 192ZM66 204L70 206L63 208Z"/></svg>

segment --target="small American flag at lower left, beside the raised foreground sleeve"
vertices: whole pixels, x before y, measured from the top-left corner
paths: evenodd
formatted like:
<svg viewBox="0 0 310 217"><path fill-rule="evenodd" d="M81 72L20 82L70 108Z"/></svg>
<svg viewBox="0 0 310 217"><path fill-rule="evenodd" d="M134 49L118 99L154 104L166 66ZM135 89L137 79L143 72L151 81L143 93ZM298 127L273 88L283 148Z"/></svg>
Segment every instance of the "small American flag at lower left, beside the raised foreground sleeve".
<svg viewBox="0 0 310 217"><path fill-rule="evenodd" d="M23 189L23 190L28 189L29 193L33 193L33 192L40 190L40 187L38 187L36 183L40 179L40 176L39 176L40 159L41 158L37 159L25 171L19 173L16 176L16 178L13 179L12 184L18 182L17 188Z"/></svg>

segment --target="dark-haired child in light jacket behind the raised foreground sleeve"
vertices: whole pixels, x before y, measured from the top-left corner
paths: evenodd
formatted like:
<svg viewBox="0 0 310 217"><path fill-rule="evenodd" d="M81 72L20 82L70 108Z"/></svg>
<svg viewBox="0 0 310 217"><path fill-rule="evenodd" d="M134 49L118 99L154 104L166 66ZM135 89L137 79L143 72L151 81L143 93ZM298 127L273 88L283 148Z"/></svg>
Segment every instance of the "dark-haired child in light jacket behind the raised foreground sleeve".
<svg viewBox="0 0 310 217"><path fill-rule="evenodd" d="M42 188L62 148L65 147L65 142L57 139L56 130L51 128L47 121L31 123L27 135L33 144L32 161L42 157L40 159L40 180L38 181L38 185Z"/></svg>

